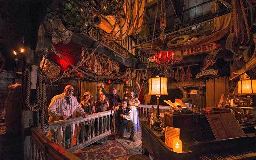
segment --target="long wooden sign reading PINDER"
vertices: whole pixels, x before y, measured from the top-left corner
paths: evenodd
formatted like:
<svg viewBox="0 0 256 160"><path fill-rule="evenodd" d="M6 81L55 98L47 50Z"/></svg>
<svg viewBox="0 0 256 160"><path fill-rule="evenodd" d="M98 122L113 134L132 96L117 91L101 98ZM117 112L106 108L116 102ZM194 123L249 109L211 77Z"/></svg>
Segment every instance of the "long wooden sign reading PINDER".
<svg viewBox="0 0 256 160"><path fill-rule="evenodd" d="M181 51L175 52L175 55L191 55L191 54L198 54L198 53L204 53L204 52L209 52L215 48L218 48L220 46L219 43L208 43L204 45L199 45L199 46L194 46L191 48L187 48Z"/></svg>

